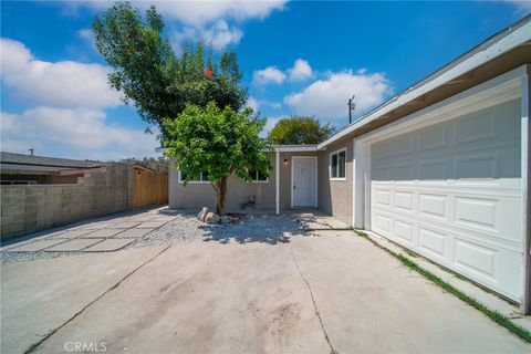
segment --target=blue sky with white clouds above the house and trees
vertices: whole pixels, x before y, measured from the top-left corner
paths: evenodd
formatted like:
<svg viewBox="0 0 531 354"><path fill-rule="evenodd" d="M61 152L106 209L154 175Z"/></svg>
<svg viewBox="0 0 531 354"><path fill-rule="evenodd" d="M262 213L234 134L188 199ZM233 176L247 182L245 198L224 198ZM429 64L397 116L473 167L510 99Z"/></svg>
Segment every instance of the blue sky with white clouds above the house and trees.
<svg viewBox="0 0 531 354"><path fill-rule="evenodd" d="M144 8L148 1L136 2ZM156 2L174 48L235 50L249 105L341 127L531 11L531 2ZM1 2L1 149L71 158L156 156L154 135L108 88L95 1Z"/></svg>

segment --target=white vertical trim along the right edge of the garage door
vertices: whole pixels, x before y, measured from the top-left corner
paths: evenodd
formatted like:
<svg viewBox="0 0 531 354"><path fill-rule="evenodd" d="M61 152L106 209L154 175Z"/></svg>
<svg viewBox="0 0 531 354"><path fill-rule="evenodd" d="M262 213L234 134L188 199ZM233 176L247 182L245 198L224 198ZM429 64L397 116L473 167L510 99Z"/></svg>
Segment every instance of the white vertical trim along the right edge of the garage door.
<svg viewBox="0 0 531 354"><path fill-rule="evenodd" d="M522 174L522 299L520 311L531 313L531 219L529 216L529 162L530 162L530 73L528 65L525 75L521 79L522 90L522 117L521 117L521 174Z"/></svg>

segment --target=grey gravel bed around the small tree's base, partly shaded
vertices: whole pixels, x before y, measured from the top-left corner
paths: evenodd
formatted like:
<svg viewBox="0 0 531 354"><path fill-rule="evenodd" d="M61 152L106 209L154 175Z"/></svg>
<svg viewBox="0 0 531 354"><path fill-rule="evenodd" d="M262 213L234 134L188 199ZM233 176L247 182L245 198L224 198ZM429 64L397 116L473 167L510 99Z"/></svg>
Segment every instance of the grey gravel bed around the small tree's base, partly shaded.
<svg viewBox="0 0 531 354"><path fill-rule="evenodd" d="M153 230L129 247L149 247L190 241L238 243L287 242L289 236L304 235L304 227L293 215L243 215L227 225L208 225L197 220L197 214L181 212L163 227Z"/></svg>

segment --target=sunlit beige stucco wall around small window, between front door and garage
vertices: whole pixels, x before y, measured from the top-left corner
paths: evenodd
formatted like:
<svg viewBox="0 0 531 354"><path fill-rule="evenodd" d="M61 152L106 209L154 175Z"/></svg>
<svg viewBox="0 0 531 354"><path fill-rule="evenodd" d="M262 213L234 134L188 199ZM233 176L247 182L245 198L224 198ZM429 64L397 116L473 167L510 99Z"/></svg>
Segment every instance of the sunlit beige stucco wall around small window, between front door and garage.
<svg viewBox="0 0 531 354"><path fill-rule="evenodd" d="M346 180L330 180L330 154L341 148L346 148ZM326 146L326 150L319 152L319 209L347 225L352 223L352 137L337 140Z"/></svg>

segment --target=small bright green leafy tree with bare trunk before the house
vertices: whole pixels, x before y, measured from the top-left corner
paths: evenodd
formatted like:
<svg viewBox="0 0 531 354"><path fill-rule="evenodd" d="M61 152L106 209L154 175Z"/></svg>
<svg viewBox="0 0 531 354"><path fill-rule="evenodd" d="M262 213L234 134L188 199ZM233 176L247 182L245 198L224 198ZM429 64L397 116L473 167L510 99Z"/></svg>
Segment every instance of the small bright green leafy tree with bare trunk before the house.
<svg viewBox="0 0 531 354"><path fill-rule="evenodd" d="M166 119L167 155L175 156L177 168L185 171L185 185L208 176L217 194L217 212L225 215L227 179L236 174L250 181L251 173L269 175L270 145L260 137L266 122L251 108L237 112L219 108L210 102L205 108L187 105L178 119Z"/></svg>

